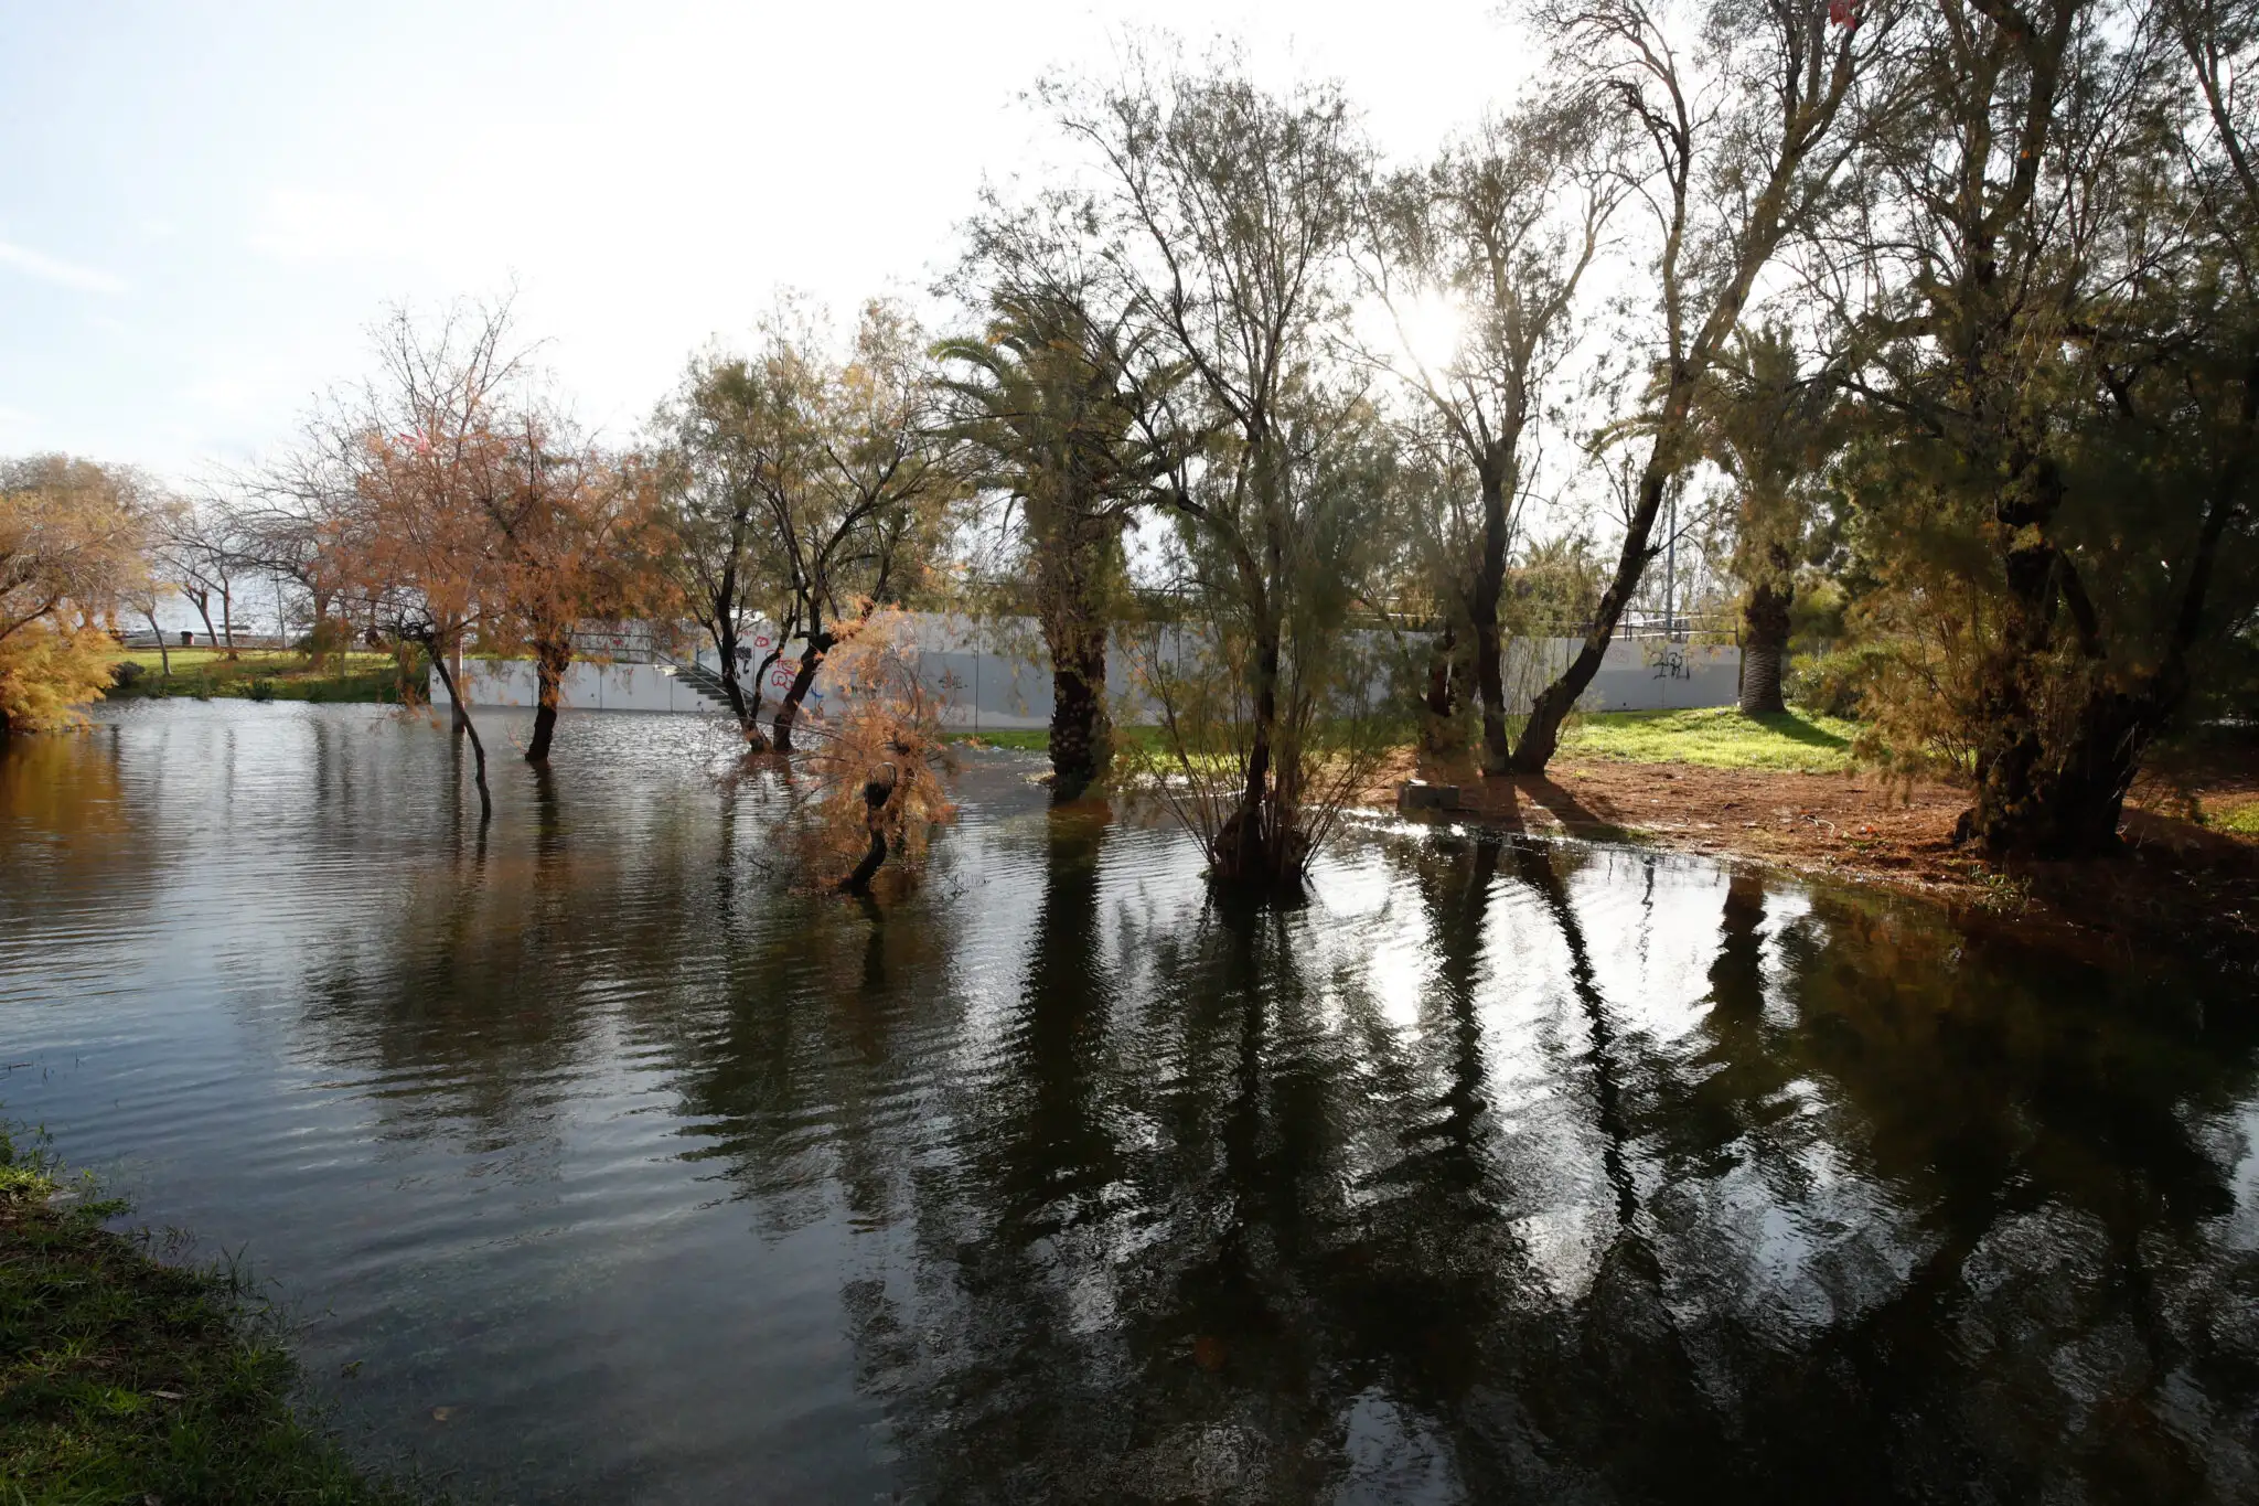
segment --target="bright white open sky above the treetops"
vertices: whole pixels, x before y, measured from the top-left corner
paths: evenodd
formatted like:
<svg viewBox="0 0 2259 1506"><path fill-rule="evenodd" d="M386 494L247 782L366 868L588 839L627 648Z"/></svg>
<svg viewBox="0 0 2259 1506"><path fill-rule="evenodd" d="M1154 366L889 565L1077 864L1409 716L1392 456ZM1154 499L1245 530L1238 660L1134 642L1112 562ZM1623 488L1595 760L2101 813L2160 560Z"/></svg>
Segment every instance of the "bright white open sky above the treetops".
<svg viewBox="0 0 2259 1506"><path fill-rule="evenodd" d="M1495 0L0 0L0 454L181 479L285 440L391 300L520 289L623 438L777 287L919 294L1021 95L1134 27L1340 77L1425 156L1525 79Z"/></svg>

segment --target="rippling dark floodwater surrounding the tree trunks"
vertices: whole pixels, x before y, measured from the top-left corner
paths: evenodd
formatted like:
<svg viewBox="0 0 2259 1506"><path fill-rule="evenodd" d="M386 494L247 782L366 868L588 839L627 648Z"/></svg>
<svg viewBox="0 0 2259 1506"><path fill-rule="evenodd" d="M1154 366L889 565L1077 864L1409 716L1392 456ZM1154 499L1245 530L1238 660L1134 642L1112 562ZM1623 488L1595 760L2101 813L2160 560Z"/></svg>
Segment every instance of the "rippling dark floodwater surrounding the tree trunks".
<svg viewBox="0 0 2259 1506"><path fill-rule="evenodd" d="M368 707L0 752L0 1113L501 1501L2252 1501L2248 984L1371 822L1312 901L976 759L795 883L694 718L465 820ZM474 817L477 806L468 806Z"/></svg>

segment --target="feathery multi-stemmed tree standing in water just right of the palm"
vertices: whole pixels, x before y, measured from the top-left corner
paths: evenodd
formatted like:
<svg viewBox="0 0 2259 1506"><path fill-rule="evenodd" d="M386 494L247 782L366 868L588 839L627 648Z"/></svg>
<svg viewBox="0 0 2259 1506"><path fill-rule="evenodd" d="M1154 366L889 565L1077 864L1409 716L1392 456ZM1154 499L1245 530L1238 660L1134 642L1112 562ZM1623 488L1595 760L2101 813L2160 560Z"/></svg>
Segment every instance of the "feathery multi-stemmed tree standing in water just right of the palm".
<svg viewBox="0 0 2259 1506"><path fill-rule="evenodd" d="M1152 332L1139 422L1170 458L1159 504L1229 677L1211 720L1224 741L1200 759L1163 713L1190 788L1231 774L1229 799L1188 811L1218 878L1292 887L1342 795L1344 765L1312 734L1353 720L1367 691L1344 616L1376 531L1344 476L1369 404L1326 341L1367 149L1340 93L1276 95L1231 59L1046 97L1091 154L1100 242Z"/></svg>

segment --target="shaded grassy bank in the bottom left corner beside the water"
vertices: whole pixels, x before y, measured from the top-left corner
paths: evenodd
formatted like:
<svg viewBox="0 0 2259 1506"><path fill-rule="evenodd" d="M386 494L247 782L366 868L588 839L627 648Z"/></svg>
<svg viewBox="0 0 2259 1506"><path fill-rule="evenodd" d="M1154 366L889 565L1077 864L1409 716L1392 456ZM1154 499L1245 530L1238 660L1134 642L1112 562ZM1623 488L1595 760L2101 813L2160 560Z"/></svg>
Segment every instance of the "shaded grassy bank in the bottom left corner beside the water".
<svg viewBox="0 0 2259 1506"><path fill-rule="evenodd" d="M409 1501L291 1413L296 1366L217 1271L167 1267L0 1129L0 1501Z"/></svg>

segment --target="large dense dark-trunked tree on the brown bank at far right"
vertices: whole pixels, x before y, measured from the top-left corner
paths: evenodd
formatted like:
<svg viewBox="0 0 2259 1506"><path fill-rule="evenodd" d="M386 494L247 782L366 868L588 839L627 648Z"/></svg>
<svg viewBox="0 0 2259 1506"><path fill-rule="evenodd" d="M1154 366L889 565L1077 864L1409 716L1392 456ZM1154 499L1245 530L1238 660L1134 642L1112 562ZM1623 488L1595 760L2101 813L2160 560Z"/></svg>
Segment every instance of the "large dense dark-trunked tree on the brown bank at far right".
<svg viewBox="0 0 2259 1506"><path fill-rule="evenodd" d="M2254 59L2232 7L1925 14L1837 307L1900 646L1870 695L1968 761L1992 853L2117 844L2207 646L2250 621Z"/></svg>

